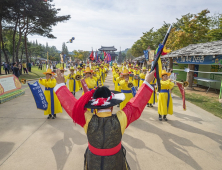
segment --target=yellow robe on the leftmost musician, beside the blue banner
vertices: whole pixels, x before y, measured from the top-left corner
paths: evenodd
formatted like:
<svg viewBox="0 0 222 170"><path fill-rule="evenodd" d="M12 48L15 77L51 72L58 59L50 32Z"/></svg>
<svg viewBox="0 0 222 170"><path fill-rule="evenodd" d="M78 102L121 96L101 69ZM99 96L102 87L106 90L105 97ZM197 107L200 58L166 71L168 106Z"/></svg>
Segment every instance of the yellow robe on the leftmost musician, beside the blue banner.
<svg viewBox="0 0 222 170"><path fill-rule="evenodd" d="M62 113L62 106L53 90L53 88L56 86L56 80L55 79L49 79L49 80L42 79L42 80L39 80L39 83L45 86L44 95L45 95L46 101L48 102L48 108L47 110L44 111L44 115L53 114L51 104L54 105L54 114ZM54 103L52 103L52 100L51 100L51 92L53 93Z"/></svg>

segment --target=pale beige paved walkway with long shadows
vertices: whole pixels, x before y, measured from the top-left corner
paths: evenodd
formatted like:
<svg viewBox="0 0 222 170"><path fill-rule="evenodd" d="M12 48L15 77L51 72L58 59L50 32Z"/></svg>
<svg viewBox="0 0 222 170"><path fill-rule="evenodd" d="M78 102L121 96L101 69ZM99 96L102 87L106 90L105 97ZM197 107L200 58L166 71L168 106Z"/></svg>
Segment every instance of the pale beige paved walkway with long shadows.
<svg viewBox="0 0 222 170"><path fill-rule="evenodd" d="M111 73L105 85L114 88ZM168 122L158 121L155 105L125 131L122 143L131 169L221 170L222 120L189 102L183 111L179 97L173 103ZM81 170L86 147L83 129L65 111L46 119L29 89L0 105L1 170Z"/></svg>

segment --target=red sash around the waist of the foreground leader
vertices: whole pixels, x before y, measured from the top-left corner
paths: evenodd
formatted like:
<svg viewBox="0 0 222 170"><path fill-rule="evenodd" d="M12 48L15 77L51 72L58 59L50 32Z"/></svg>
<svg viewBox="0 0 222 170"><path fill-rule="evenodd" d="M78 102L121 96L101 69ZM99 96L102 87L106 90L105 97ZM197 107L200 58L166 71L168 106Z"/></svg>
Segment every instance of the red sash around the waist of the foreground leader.
<svg viewBox="0 0 222 170"><path fill-rule="evenodd" d="M92 145L90 145L88 143L89 146L89 150L94 154L94 155L98 155L98 156L112 156L115 155L116 153L118 153L122 147L121 142L115 146L114 148L110 148L110 149L98 149L93 147Z"/></svg>

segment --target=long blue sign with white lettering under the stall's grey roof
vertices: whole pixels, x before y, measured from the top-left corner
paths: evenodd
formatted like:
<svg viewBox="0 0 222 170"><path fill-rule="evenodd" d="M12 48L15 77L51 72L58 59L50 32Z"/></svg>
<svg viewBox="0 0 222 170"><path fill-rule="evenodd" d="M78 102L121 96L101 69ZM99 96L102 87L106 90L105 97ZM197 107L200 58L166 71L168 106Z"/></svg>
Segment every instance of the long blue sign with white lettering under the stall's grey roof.
<svg viewBox="0 0 222 170"><path fill-rule="evenodd" d="M174 58L175 63L222 65L222 55L218 56L181 56Z"/></svg>

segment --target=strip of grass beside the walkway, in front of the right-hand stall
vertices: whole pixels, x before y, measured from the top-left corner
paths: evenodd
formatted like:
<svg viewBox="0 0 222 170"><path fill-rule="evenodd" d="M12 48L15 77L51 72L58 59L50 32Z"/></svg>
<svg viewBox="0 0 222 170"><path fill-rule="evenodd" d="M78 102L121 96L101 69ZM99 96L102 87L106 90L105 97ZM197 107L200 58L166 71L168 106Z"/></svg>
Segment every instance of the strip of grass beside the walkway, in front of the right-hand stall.
<svg viewBox="0 0 222 170"><path fill-rule="evenodd" d="M176 94L177 96L182 97L178 87L173 88L173 93ZM211 97L211 96L206 97L204 95L201 94L197 95L195 93L186 93L185 96L187 101L214 114L215 116L222 118L222 104L219 103L218 97Z"/></svg>

